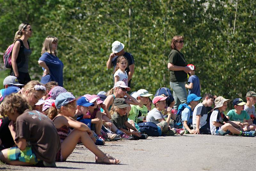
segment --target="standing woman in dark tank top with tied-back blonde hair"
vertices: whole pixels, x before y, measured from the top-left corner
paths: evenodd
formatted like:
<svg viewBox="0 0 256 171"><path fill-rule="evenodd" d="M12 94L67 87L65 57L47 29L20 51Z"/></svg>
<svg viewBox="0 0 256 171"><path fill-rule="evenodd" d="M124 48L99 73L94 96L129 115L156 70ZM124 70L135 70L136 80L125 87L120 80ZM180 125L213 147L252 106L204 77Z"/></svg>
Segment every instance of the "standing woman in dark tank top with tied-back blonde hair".
<svg viewBox="0 0 256 171"><path fill-rule="evenodd" d="M28 23L21 23L14 37L12 49L11 75L18 78L20 84L27 84L31 79L28 73L28 61L32 51L28 38L32 36L32 28Z"/></svg>

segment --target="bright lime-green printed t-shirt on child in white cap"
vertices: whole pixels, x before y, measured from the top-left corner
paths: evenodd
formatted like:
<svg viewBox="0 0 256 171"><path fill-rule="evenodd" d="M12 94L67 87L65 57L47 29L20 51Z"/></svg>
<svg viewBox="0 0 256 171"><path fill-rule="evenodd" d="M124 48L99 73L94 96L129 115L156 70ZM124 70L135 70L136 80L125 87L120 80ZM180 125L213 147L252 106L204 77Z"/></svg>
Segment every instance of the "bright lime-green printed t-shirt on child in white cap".
<svg viewBox="0 0 256 171"><path fill-rule="evenodd" d="M128 118L133 120L135 123L142 121L144 117L148 115L148 108L144 105L142 108L140 108L139 105L131 105L131 107L132 109Z"/></svg>

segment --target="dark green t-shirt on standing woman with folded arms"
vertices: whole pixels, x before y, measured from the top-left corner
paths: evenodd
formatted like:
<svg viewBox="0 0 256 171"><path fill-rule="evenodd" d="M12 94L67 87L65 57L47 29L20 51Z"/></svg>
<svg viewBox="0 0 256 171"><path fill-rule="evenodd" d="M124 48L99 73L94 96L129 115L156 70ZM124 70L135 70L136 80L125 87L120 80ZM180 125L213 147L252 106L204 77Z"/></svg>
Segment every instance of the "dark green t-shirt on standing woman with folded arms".
<svg viewBox="0 0 256 171"><path fill-rule="evenodd" d="M187 66L188 63L184 57L184 55L178 50L172 49L169 54L168 63L172 63L176 66ZM188 75L184 71L170 71L170 81L171 82L185 82L188 79Z"/></svg>

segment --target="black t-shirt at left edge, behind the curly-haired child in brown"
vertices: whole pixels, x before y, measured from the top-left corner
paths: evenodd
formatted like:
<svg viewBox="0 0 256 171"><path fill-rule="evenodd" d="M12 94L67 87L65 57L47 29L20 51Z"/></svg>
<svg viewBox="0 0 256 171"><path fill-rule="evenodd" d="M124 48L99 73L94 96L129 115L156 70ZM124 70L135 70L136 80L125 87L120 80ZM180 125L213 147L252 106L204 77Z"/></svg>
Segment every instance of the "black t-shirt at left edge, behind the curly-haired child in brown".
<svg viewBox="0 0 256 171"><path fill-rule="evenodd" d="M0 118L0 139L5 148L10 148L14 145L12 134L8 127L10 122L8 117Z"/></svg>

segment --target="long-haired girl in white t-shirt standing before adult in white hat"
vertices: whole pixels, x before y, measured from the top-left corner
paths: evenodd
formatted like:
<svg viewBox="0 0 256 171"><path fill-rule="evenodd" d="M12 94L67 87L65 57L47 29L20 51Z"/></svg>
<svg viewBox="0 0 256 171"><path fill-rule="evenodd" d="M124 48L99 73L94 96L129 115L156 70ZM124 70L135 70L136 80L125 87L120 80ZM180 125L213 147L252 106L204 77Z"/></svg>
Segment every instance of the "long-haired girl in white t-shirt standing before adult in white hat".
<svg viewBox="0 0 256 171"><path fill-rule="evenodd" d="M124 56L119 56L116 60L116 69L114 71L115 83L117 81L124 81L125 85L128 86L128 75L125 71L128 64L128 60Z"/></svg>

